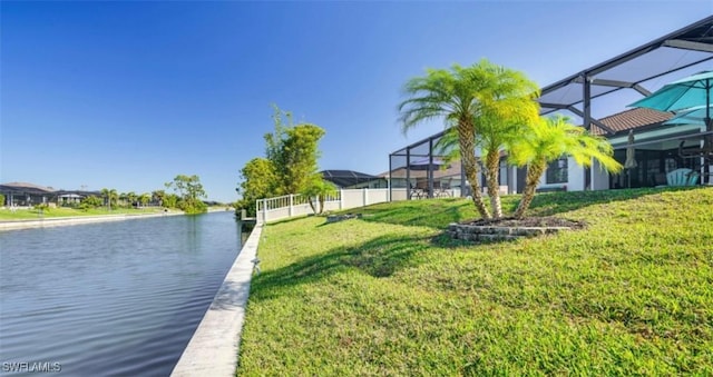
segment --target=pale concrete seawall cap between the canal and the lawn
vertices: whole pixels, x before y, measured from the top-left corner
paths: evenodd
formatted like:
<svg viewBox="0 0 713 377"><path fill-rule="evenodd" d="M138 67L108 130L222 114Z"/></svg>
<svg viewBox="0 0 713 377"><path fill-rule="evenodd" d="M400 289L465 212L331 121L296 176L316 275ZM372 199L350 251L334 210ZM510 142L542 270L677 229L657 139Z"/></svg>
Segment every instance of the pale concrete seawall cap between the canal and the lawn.
<svg viewBox="0 0 713 377"><path fill-rule="evenodd" d="M262 225L256 225L225 276L213 304L201 320L172 376L234 376L250 295L253 259Z"/></svg>

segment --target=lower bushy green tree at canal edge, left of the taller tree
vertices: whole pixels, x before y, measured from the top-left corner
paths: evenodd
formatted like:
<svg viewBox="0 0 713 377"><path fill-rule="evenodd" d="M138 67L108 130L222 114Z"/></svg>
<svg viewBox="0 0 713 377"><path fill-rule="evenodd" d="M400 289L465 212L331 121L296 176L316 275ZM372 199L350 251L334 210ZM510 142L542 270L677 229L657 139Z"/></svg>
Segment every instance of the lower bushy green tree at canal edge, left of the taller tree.
<svg viewBox="0 0 713 377"><path fill-rule="evenodd" d="M257 199L282 194L275 168L268 159L257 157L250 160L241 170L241 178L236 191L242 198L237 201L236 211L245 209L250 216L254 216Z"/></svg>

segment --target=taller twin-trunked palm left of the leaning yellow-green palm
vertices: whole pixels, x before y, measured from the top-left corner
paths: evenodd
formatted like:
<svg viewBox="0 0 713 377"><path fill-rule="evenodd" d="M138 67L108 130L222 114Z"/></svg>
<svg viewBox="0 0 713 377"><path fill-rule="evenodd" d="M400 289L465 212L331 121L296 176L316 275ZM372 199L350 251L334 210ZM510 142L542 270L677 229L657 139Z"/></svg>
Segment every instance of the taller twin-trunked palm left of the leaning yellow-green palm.
<svg viewBox="0 0 713 377"><path fill-rule="evenodd" d="M500 217L498 192L499 148L506 143L504 130L536 117L537 86L522 73L481 60L471 67L453 65L450 70L429 69L426 77L417 77L404 86L410 96L399 105L403 131L437 118L442 118L457 136L466 178L472 187L472 200L482 218L490 218L478 180L480 167L476 146L488 147L486 167L488 194L494 215ZM452 130L452 131L451 131Z"/></svg>

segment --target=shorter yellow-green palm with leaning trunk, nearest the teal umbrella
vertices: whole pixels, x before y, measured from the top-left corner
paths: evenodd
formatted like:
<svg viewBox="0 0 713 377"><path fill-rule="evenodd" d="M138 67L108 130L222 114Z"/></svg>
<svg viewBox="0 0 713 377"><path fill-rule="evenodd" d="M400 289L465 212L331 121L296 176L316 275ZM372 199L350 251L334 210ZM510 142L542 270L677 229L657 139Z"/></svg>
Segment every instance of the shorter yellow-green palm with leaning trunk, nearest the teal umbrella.
<svg viewBox="0 0 713 377"><path fill-rule="evenodd" d="M547 165L560 157L572 157L584 167L590 167L593 160L597 160L611 172L622 170L622 165L612 157L614 150L606 139L569 123L567 117L541 118L522 130L509 148L511 162L520 167L527 165L525 190L515 211L517 219L525 217Z"/></svg>

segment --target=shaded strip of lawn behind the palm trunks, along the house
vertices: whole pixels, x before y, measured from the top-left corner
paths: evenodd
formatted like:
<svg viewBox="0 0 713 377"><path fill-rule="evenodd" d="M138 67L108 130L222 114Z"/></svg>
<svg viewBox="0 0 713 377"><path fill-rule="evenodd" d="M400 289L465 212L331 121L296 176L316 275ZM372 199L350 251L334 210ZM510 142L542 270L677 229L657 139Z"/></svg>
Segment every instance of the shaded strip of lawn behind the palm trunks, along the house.
<svg viewBox="0 0 713 377"><path fill-rule="evenodd" d="M535 196L527 216L557 216L594 205L631 200L668 191L701 189L701 187L667 187L622 190L541 192ZM486 204L489 205L488 198ZM515 212L519 195L501 197L505 216ZM346 212L346 211L344 211ZM466 198L428 199L398 201L351 209L349 212L363 214L362 220L403 226L445 229L451 222L478 219L472 200Z"/></svg>

